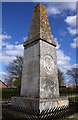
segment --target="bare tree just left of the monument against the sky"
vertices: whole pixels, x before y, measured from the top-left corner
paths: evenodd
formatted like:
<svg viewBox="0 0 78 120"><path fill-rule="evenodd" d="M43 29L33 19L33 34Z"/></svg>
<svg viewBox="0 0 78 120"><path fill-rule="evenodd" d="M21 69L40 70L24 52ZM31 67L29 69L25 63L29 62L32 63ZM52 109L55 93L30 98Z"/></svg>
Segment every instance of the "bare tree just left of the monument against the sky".
<svg viewBox="0 0 78 120"><path fill-rule="evenodd" d="M17 56L16 59L13 60L13 62L9 63L9 65L6 67L8 74L5 80L10 86L20 88L22 77L22 64L23 58Z"/></svg>

